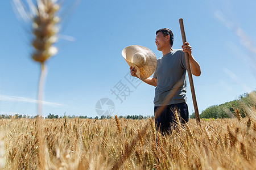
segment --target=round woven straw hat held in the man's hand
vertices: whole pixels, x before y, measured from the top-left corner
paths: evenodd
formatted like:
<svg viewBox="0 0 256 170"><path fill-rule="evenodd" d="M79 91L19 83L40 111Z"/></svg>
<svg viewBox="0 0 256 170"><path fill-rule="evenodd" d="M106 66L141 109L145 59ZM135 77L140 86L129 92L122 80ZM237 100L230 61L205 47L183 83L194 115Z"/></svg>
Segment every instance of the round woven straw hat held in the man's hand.
<svg viewBox="0 0 256 170"><path fill-rule="evenodd" d="M140 45L127 46L122 50L122 56L129 66L137 69L136 75L142 80L149 78L155 72L158 64L155 54Z"/></svg>

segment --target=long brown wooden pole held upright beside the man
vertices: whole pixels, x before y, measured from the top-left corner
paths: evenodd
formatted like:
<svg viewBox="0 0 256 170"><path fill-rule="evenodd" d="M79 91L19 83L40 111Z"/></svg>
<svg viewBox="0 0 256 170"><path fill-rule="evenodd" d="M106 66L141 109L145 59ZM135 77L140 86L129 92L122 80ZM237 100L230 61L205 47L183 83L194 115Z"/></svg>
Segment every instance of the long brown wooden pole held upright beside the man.
<svg viewBox="0 0 256 170"><path fill-rule="evenodd" d="M183 44L184 44L185 42L187 42L187 40L186 40L186 35L185 35L183 19L180 18L179 22L180 22L180 31L181 31L182 41L183 41ZM194 104L195 113L196 113L196 121L197 121L197 123L200 124L199 111L198 111L197 102L196 102L196 92L195 92L195 87L194 87L193 78L192 78L192 74L191 74L191 68L190 68L188 53L185 53L185 59L186 59L188 78L189 78L189 84L190 84L191 93L192 93L193 104Z"/></svg>

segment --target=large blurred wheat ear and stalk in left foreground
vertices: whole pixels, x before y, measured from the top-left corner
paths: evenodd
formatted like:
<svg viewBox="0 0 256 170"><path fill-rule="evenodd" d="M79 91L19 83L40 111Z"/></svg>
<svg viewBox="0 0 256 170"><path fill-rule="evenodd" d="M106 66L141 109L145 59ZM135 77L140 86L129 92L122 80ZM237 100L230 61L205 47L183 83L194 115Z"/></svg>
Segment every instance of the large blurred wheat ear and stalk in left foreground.
<svg viewBox="0 0 256 170"><path fill-rule="evenodd" d="M29 23L32 24L32 33L34 35L34 39L31 42L34 47L32 59L41 65L38 87L38 157L40 169L48 169L48 150L44 142L45 135L43 133L41 116L43 113L44 83L47 75L45 63L47 59L57 53L57 48L53 44L57 41L57 33L59 32L57 23L60 22L60 19L57 16L57 11L59 11L60 5L55 0L38 0L36 3L33 3L31 0L27 0L26 2L21 0L13 1L22 18L25 20L28 19Z"/></svg>

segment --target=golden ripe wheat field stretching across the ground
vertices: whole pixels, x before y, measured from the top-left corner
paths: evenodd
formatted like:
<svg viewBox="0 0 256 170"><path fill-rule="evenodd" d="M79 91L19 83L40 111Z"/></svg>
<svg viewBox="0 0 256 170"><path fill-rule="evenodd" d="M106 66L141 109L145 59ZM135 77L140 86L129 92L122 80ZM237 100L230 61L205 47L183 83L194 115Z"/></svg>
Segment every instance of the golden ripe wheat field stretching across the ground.
<svg viewBox="0 0 256 170"><path fill-rule="evenodd" d="M251 118L189 120L169 135L154 120L1 120L1 169L255 169Z"/></svg>

